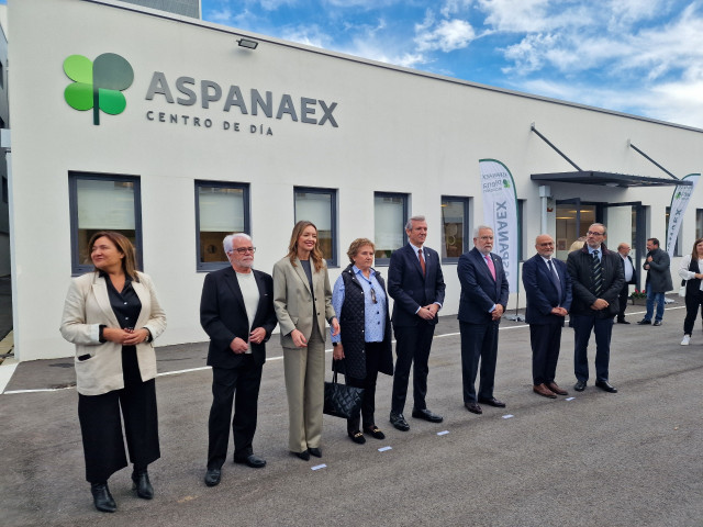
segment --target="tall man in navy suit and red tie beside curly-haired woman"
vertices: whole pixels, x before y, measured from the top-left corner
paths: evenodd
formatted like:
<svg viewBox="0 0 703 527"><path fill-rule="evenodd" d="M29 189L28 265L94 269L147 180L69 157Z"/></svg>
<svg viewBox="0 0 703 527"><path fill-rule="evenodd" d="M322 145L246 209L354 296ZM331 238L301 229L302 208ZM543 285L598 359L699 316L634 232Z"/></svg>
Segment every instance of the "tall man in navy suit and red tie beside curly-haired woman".
<svg viewBox="0 0 703 527"><path fill-rule="evenodd" d="M391 424L406 431L410 425L403 416L410 367L413 366L413 417L442 423L442 416L427 410L427 360L432 337L437 324L437 312L444 302L444 276L439 256L423 247L427 237L425 216L413 216L405 224L409 244L391 255L388 269L388 293L393 304L395 334L395 373L391 401Z"/></svg>

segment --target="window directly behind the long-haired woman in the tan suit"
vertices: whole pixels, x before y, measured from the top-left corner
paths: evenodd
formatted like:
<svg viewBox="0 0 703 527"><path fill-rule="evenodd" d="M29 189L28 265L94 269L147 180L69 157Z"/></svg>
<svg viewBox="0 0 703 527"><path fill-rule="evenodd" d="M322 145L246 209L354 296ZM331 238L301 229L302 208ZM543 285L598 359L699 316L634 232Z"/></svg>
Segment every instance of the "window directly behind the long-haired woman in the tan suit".
<svg viewBox="0 0 703 527"><path fill-rule="evenodd" d="M328 267L337 262L337 191L295 187L295 222L308 221L317 227L317 243Z"/></svg>

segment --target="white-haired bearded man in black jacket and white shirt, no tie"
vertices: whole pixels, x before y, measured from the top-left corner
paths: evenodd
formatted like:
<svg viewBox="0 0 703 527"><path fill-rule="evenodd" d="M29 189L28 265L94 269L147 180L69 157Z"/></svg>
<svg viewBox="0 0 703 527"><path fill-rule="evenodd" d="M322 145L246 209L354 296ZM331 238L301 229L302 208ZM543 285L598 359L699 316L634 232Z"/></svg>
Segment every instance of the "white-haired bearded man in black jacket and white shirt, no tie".
<svg viewBox="0 0 703 527"><path fill-rule="evenodd" d="M212 367L212 407L209 421L205 484L220 483L227 457L230 426L234 436L234 462L263 468L254 455L257 402L266 341L276 327L274 281L252 269L252 238L233 234L223 240L231 266L209 273L202 287L200 324L210 336L208 366ZM236 400L235 400L236 391ZM232 403L234 401L234 418Z"/></svg>

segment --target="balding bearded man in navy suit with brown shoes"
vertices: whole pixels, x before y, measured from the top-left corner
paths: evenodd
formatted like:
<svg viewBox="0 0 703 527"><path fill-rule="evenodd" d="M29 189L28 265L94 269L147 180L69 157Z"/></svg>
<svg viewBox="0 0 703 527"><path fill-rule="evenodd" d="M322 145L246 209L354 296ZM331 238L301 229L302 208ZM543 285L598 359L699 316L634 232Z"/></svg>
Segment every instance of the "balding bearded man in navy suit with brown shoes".
<svg viewBox="0 0 703 527"><path fill-rule="evenodd" d="M568 395L555 382L563 317L571 307L571 277L563 261L553 258L554 238L540 234L537 254L523 264L523 284L527 296L525 319L529 324L533 391L544 397Z"/></svg>

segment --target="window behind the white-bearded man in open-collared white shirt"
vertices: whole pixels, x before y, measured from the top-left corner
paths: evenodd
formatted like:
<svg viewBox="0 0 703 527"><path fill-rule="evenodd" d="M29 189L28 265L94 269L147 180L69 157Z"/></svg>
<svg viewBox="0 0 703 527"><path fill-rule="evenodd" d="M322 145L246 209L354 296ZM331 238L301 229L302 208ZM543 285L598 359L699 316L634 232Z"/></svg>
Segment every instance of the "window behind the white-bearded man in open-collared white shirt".
<svg viewBox="0 0 703 527"><path fill-rule="evenodd" d="M232 233L250 234L249 186L221 181L196 181L196 233L198 270L211 271L230 265L222 247Z"/></svg>

